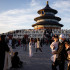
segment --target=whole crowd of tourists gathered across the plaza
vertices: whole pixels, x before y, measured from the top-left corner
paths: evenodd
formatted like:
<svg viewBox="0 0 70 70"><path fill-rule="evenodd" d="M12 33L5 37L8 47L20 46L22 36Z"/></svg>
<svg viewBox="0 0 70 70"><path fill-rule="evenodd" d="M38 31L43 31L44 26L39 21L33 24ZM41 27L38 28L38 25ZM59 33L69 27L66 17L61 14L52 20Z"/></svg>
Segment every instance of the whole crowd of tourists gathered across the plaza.
<svg viewBox="0 0 70 70"><path fill-rule="evenodd" d="M51 41L51 42L50 42ZM22 47L23 51L27 52L27 47L29 48L29 57L33 57L34 51L42 51L43 45L50 44L52 51L51 61L52 70L65 69L65 61L68 62L67 70L70 70L70 41L66 40L65 36L61 34L60 36L54 35L50 39L46 38L25 38L23 39L12 39L11 37L6 38L5 35L0 36L0 69L7 70L9 68L20 68L23 66L23 62L18 56L18 52L13 52L16 47Z"/></svg>

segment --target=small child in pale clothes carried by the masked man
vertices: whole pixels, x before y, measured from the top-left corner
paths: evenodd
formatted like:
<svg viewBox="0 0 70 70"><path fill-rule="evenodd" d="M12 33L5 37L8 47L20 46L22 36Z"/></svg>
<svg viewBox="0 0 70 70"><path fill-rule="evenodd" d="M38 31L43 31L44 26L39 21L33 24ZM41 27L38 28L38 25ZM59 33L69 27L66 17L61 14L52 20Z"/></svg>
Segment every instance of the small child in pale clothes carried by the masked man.
<svg viewBox="0 0 70 70"><path fill-rule="evenodd" d="M52 44L50 45L52 53L55 52L55 51L57 51L57 49L58 49L58 43L59 43L58 42L58 36L56 35L56 36L54 36L54 42L52 42ZM53 62L55 62L56 58L57 58L57 54L53 54L52 57L51 57L51 60Z"/></svg>

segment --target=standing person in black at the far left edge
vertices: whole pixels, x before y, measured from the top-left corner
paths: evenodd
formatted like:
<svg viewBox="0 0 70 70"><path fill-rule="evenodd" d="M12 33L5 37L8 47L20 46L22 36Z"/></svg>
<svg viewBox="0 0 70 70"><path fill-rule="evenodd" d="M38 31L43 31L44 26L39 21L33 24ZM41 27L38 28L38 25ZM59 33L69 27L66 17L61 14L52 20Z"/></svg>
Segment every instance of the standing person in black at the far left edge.
<svg viewBox="0 0 70 70"><path fill-rule="evenodd" d="M5 41L0 41L0 70L4 68L5 52L9 51L8 45Z"/></svg>

